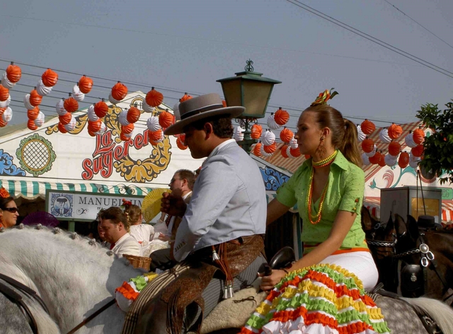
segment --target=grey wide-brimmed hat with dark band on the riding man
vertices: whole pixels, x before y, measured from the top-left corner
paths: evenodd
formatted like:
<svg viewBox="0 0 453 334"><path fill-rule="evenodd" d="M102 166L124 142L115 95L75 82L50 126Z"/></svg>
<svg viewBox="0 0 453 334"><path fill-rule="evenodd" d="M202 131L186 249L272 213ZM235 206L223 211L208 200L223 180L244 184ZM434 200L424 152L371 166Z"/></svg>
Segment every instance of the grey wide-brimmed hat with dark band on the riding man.
<svg viewBox="0 0 453 334"><path fill-rule="evenodd" d="M222 99L219 94L216 93L193 97L193 99L180 103L179 114L181 120L168 126L164 131L164 134L176 135L178 133L183 133L185 126L207 117L228 115L229 118L233 119L238 117L245 110L246 108L244 107L224 107Z"/></svg>

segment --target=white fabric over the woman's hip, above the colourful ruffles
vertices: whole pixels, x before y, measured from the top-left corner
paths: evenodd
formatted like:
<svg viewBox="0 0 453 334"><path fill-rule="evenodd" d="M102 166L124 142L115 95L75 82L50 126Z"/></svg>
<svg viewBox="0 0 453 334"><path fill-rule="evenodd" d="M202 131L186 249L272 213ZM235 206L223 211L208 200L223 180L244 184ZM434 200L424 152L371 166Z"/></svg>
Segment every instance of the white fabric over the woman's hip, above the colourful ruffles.
<svg viewBox="0 0 453 334"><path fill-rule="evenodd" d="M379 273L376 263L374 263L373 257L368 251L352 251L327 256L321 263L335 264L354 273L362 281L366 291L372 290L377 285Z"/></svg>

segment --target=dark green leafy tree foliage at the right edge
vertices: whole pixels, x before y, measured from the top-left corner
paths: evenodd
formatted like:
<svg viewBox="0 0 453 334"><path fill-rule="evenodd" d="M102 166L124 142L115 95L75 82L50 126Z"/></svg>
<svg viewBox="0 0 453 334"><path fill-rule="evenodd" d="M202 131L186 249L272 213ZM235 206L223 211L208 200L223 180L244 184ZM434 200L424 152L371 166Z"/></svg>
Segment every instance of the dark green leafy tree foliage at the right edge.
<svg viewBox="0 0 453 334"><path fill-rule="evenodd" d="M442 176L440 184L453 183L453 103L448 102L445 106L447 109L440 110L437 105L427 103L417 114L417 118L432 130L423 142L425 152L419 166Z"/></svg>

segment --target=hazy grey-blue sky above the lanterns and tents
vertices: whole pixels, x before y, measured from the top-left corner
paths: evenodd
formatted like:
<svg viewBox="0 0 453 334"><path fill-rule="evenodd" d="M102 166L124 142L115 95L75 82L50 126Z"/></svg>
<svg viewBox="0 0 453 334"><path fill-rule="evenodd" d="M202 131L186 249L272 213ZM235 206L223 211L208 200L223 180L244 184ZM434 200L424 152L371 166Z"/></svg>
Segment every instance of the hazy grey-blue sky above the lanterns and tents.
<svg viewBox="0 0 453 334"><path fill-rule="evenodd" d="M453 1L299 1L453 72ZM282 81L267 112L287 109L292 128L300 110L330 88L339 93L330 104L345 117L384 121L377 126L416 121L421 105L443 107L453 96L453 78L287 0L3 1L0 46L1 74L9 61L31 65L20 65L29 74L11 90L9 124L27 121L21 101L47 67L73 83L59 80L43 98L46 115L56 115L58 98L82 74L111 80L94 79L81 107L107 99L113 80L142 84L127 85L130 91L155 86L172 107L184 92L222 94L216 80L243 71L247 59Z"/></svg>

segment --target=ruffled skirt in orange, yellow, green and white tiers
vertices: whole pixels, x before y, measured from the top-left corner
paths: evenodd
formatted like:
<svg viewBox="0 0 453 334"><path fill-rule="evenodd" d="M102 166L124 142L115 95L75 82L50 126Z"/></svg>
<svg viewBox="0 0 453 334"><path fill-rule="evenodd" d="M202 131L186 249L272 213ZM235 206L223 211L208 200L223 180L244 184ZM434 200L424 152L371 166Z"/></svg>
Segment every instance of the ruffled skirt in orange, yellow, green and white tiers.
<svg viewBox="0 0 453 334"><path fill-rule="evenodd" d="M326 264L287 274L241 330L241 334L389 332L362 282L348 270Z"/></svg>

